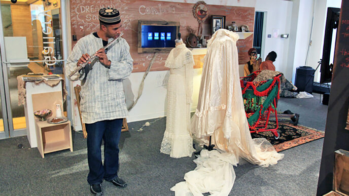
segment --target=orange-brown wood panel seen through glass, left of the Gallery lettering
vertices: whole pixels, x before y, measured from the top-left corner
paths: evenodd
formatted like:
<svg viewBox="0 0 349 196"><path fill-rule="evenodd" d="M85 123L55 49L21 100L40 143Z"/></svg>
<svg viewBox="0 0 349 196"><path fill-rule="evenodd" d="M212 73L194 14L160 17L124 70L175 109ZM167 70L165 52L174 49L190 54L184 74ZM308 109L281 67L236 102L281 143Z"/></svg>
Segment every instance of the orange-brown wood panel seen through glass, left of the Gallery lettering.
<svg viewBox="0 0 349 196"><path fill-rule="evenodd" d="M29 5L11 4L13 36L25 36L28 57L33 56L33 39Z"/></svg>

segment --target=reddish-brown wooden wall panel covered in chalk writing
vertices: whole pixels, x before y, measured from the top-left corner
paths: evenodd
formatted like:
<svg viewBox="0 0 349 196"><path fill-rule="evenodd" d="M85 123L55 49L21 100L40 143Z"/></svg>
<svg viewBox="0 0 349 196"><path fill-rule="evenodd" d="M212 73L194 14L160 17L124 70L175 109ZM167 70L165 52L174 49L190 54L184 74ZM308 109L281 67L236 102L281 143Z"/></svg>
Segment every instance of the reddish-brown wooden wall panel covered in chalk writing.
<svg viewBox="0 0 349 196"><path fill-rule="evenodd" d="M95 32L99 28L98 10L102 7L113 7L121 12L122 25L124 27L123 37L130 45L130 53L134 60L133 72L143 72L148 67L153 54L137 53L137 33L138 20L165 20L180 22L180 32L186 38L189 34L186 26L197 30L198 22L193 16L194 4L159 2L159 1L139 1L139 0L111 0L106 4L100 4L96 0L76 0L71 1L71 31L72 35L81 37ZM238 25L247 24L253 30L254 8L212 6L208 5L210 16L203 24L203 35L211 35L211 16L225 15L226 26L235 21ZM72 37L71 37L72 38ZM73 46L76 44L72 41ZM247 51L253 45L253 36L247 40L238 41L239 64L245 64L249 58ZM246 54L245 54L246 53ZM164 67L168 53L159 53L153 64L152 71L166 70Z"/></svg>

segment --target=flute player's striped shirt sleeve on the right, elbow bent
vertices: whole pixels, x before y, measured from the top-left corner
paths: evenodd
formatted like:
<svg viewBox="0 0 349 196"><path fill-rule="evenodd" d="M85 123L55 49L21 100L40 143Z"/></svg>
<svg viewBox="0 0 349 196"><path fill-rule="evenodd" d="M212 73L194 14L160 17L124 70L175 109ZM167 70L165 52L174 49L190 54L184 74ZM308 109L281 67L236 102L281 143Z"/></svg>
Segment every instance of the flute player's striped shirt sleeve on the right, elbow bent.
<svg viewBox="0 0 349 196"><path fill-rule="evenodd" d="M120 54L120 61L111 60L109 80L126 79L133 70L133 59L130 55L130 47L125 40L121 40L123 49Z"/></svg>

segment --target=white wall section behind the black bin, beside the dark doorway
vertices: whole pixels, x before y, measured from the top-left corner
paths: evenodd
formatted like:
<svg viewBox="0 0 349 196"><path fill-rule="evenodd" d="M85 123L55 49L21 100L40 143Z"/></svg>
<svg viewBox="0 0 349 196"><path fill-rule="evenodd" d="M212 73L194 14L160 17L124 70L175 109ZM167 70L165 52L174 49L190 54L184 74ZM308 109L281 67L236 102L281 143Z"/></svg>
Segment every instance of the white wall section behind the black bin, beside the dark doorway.
<svg viewBox="0 0 349 196"><path fill-rule="evenodd" d="M294 46L290 44L288 64L293 64L292 81L294 82L297 67L305 65L316 69L318 66L323 52L327 8L340 8L341 0L294 0L293 3L291 31L296 31L296 34ZM312 17L313 27L310 37ZM311 44L308 51L309 40ZM335 42L334 39L333 42ZM306 58L307 52L308 58ZM294 55L293 58L292 55ZM320 81L320 67L315 73L314 81Z"/></svg>

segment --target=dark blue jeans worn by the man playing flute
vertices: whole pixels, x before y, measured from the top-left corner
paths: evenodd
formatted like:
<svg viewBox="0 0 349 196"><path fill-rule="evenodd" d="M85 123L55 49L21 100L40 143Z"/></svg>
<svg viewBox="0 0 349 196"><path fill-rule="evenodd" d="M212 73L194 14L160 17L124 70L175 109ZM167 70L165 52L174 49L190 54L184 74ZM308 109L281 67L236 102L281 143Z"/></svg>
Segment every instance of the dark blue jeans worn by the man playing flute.
<svg viewBox="0 0 349 196"><path fill-rule="evenodd" d="M87 160L90 172L89 184L112 180L118 176L119 140L123 119L99 121L85 124L87 132ZM101 144L104 140L104 163L101 158Z"/></svg>

